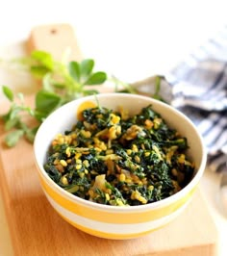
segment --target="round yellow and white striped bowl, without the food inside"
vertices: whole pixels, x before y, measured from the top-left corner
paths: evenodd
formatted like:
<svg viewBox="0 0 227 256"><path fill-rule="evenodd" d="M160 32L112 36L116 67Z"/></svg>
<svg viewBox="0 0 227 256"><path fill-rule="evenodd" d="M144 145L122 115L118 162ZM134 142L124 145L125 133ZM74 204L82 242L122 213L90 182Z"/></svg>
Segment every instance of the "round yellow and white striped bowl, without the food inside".
<svg viewBox="0 0 227 256"><path fill-rule="evenodd" d="M122 106L132 115L151 104L170 127L178 130L189 142L189 157L196 166L189 185L164 200L141 206L117 207L97 204L65 192L43 168L48 147L54 136L68 130L76 122L78 108L84 102L98 102L116 109ZM136 94L106 93L74 100L49 115L38 129L34 143L41 187L54 209L69 223L88 234L108 239L137 238L154 231L176 218L188 205L206 165L207 154L201 136L186 115L167 104Z"/></svg>

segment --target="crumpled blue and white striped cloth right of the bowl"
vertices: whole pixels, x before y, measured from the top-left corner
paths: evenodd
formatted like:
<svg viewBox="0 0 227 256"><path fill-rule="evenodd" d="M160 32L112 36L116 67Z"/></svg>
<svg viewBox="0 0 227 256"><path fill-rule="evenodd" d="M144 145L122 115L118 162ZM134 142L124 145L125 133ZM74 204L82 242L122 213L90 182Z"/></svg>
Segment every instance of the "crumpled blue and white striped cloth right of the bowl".
<svg viewBox="0 0 227 256"><path fill-rule="evenodd" d="M227 170L227 26L165 79L171 85L167 101L188 115L204 138L208 167Z"/></svg>

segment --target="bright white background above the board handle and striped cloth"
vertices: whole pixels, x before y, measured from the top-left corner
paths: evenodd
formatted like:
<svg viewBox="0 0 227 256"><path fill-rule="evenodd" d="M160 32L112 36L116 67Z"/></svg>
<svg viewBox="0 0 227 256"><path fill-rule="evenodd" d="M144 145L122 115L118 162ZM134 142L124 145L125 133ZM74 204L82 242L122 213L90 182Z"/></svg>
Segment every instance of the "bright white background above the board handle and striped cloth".
<svg viewBox="0 0 227 256"><path fill-rule="evenodd" d="M85 57L131 82L177 64L227 21L227 1L0 1L0 42L31 28L68 22Z"/></svg>

